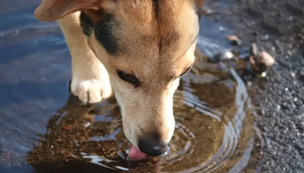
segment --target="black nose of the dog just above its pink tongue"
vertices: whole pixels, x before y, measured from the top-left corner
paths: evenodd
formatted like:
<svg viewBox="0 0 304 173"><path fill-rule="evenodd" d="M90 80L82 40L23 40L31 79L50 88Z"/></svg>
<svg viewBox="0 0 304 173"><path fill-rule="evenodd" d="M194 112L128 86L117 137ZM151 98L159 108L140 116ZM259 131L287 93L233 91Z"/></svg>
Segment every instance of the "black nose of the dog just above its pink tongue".
<svg viewBox="0 0 304 173"><path fill-rule="evenodd" d="M138 148L147 156L159 156L167 151L167 144L162 142L159 138L140 139Z"/></svg>

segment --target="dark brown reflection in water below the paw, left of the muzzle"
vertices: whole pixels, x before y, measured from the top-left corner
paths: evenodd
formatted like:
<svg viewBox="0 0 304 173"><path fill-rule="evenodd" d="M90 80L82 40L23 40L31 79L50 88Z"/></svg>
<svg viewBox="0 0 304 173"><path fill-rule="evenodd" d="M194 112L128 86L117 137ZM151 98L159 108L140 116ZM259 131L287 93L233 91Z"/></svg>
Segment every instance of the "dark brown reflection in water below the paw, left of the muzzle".
<svg viewBox="0 0 304 173"><path fill-rule="evenodd" d="M70 96L50 118L47 133L38 134L39 145L26 160L37 173L159 172L153 159L124 159L124 149L131 145L123 135L120 118L114 97L98 105L82 105Z"/></svg>

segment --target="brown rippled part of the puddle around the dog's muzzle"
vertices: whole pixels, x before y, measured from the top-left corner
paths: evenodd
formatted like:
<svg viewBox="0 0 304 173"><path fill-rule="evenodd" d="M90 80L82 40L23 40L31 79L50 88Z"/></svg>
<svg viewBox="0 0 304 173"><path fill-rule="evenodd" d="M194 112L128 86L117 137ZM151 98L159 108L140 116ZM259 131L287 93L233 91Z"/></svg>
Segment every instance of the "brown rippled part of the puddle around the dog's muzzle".
<svg viewBox="0 0 304 173"><path fill-rule="evenodd" d="M71 96L48 120L47 134L37 136L40 142L26 161L36 171L51 172L75 172L80 163L87 164L88 172L240 172L254 147L254 116L243 80L233 69L230 74L230 79L215 82L216 75L200 73L194 65L183 77L174 95L175 132L161 157L127 160L131 145L118 121L115 98L81 106Z"/></svg>

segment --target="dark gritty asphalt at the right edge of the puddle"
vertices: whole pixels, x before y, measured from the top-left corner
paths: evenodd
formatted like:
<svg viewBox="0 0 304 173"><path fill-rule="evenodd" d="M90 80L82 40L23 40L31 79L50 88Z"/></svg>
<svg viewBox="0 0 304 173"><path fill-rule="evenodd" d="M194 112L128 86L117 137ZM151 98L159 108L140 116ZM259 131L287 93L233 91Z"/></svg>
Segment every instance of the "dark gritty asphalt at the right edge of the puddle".
<svg viewBox="0 0 304 173"><path fill-rule="evenodd" d="M256 121L261 130L261 172L304 172L304 1L239 0L221 21L268 51L276 64L255 81ZM241 16L241 17L240 17ZM246 41L243 41L246 42Z"/></svg>

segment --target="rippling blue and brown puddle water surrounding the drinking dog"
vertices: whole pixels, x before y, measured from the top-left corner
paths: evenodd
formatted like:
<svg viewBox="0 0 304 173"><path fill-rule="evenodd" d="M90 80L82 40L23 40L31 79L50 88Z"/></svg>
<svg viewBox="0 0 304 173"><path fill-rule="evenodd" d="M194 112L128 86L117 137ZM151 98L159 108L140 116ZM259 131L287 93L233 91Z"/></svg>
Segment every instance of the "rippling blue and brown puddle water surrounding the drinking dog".
<svg viewBox="0 0 304 173"><path fill-rule="evenodd" d="M10 3L0 3L0 172L255 172L254 108L240 72L199 53L231 48L222 41L229 28L203 17L197 60L174 95L167 153L128 161L115 98L83 106L70 96L57 23L34 19L36 1Z"/></svg>

